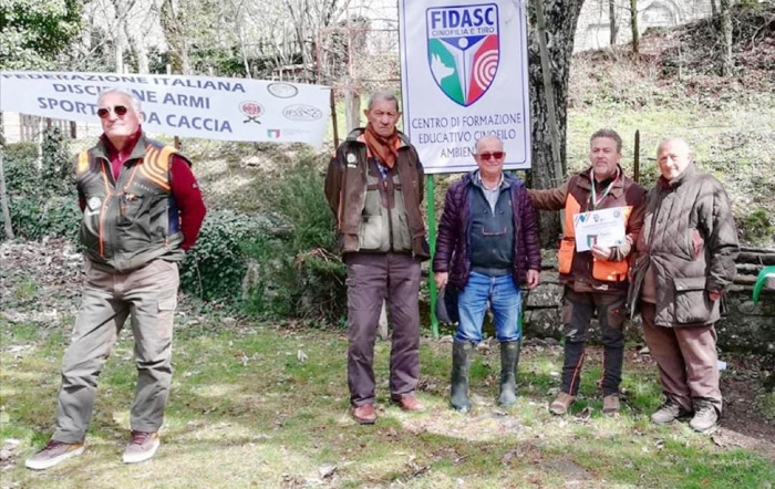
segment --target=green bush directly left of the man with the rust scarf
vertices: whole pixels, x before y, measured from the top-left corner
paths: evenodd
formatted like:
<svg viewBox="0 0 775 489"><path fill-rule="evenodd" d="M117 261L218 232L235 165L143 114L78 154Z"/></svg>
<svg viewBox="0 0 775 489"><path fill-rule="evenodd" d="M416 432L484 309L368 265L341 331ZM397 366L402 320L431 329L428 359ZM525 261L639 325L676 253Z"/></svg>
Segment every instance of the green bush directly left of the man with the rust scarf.
<svg viewBox="0 0 775 489"><path fill-rule="evenodd" d="M344 264L333 253L335 221L323 195L321 158L308 154L266 185L280 232L247 248L245 309L260 315L338 320L344 314Z"/></svg>

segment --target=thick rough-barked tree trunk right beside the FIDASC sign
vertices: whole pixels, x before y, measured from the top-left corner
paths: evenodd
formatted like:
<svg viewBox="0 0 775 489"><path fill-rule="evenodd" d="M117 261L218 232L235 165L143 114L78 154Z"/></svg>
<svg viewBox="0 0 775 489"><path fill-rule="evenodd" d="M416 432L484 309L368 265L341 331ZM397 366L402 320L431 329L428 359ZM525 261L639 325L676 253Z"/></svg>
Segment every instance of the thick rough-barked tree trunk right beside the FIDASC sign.
<svg viewBox="0 0 775 489"><path fill-rule="evenodd" d="M568 118L568 80L570 75L570 58L574 53L574 35L581 12L583 0L533 0L542 2L548 37L549 60L551 62L551 84L556 101L557 132L559 134L559 153L561 175L557 175L552 158L551 128L547 110L547 96L540 62L540 48L536 19L530 19L529 58L529 90L530 121L533 134L533 171L531 179L535 188L558 187L565 180L566 164L566 128ZM535 6L534 6L535 7ZM534 10L535 14L535 10ZM541 243L545 247L557 246L560 235L558 212L539 212L539 229Z"/></svg>

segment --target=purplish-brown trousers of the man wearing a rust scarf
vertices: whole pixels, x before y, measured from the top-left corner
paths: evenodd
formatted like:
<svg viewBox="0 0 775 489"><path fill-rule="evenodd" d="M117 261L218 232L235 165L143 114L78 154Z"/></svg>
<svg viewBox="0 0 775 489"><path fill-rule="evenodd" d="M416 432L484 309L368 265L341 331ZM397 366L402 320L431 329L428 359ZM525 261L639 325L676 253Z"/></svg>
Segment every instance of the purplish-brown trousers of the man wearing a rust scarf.
<svg viewBox="0 0 775 489"><path fill-rule="evenodd" d="M353 406L374 403L374 341L388 299L393 337L390 394L414 393L420 379L420 262L402 253L347 253L348 385Z"/></svg>

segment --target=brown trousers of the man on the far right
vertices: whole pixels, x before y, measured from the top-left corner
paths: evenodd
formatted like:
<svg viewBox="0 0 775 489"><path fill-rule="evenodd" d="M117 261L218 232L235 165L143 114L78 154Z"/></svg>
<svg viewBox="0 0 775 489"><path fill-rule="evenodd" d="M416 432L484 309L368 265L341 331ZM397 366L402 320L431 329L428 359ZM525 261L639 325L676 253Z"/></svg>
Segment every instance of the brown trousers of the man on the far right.
<svg viewBox="0 0 775 489"><path fill-rule="evenodd" d="M643 336L659 365L664 396L689 412L694 410L693 400L705 400L721 414L715 327L657 326L655 306L648 302L641 302L641 314Z"/></svg>

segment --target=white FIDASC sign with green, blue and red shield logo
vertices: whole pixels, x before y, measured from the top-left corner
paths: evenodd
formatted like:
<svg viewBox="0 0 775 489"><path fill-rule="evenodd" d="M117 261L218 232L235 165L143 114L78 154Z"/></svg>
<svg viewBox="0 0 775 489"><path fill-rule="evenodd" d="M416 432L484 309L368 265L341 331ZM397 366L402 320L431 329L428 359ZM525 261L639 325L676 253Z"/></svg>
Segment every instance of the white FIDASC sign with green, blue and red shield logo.
<svg viewBox="0 0 775 489"><path fill-rule="evenodd" d="M404 132L425 173L476 168L498 136L504 168L530 167L524 1L400 0Z"/></svg>

